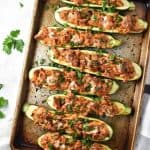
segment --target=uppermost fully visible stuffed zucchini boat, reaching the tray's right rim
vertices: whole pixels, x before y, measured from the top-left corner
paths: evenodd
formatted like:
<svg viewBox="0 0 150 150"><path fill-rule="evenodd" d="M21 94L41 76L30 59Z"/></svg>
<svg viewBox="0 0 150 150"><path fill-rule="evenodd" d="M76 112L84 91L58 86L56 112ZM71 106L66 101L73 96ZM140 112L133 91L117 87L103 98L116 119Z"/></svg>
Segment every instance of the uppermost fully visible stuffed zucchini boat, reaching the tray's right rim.
<svg viewBox="0 0 150 150"><path fill-rule="evenodd" d="M101 12L88 8L62 7L55 11L55 19L72 28L108 33L141 33L147 22L137 16Z"/></svg>

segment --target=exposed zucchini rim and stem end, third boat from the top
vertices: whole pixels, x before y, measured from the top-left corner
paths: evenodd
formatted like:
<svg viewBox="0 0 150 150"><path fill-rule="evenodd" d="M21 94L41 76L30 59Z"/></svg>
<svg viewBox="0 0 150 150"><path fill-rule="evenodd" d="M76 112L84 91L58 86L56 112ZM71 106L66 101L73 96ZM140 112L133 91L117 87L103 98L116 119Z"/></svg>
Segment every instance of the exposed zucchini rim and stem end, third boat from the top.
<svg viewBox="0 0 150 150"><path fill-rule="evenodd" d="M47 27L48 29L56 29L56 30L63 30L64 28L62 27ZM84 32L84 31L82 31ZM38 35L40 35L42 33L42 29L37 33L37 35L35 36L35 39L38 39ZM94 34L94 33L93 33ZM108 43L108 46L106 46L106 48L113 48L113 47L117 47L117 46L120 46L122 44L122 41L121 40L117 40L115 39L114 37L112 37L111 35L108 35L108 34L105 34L106 37L109 39L109 43ZM43 40L39 40L41 44L43 45L47 45L49 47L52 47L51 45L48 45L46 44ZM63 46L58 46L56 45L55 47L58 47L58 48L84 48L84 47L87 47L87 48L96 48L96 46L84 46L84 45L71 45L70 43L66 44L66 45L63 45ZM100 47L101 48L101 47Z"/></svg>

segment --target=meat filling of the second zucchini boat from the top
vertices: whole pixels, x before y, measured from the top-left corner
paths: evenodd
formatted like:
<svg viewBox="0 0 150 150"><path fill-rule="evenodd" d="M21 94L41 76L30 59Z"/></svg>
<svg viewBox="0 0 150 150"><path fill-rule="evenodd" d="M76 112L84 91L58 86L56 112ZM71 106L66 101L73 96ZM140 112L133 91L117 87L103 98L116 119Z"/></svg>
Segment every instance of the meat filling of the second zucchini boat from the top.
<svg viewBox="0 0 150 150"><path fill-rule="evenodd" d="M83 8L80 10L63 10L60 12L60 17L75 25L98 27L101 30L116 30L120 33L140 32L143 30L138 23L138 17L133 15L127 15L122 18L118 13L112 15Z"/></svg>

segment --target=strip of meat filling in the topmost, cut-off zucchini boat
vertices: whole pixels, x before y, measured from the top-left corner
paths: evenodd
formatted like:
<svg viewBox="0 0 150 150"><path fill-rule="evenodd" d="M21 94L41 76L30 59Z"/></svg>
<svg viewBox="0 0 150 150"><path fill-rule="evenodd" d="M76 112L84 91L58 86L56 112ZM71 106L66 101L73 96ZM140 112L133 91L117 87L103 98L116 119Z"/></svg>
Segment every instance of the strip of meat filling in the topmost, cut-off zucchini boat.
<svg viewBox="0 0 150 150"><path fill-rule="evenodd" d="M71 2L74 2L77 5L81 5L84 3L91 3L91 4L97 4L97 5L103 5L103 0L70 0ZM116 6L121 7L123 6L122 0L106 0L106 3L110 6Z"/></svg>

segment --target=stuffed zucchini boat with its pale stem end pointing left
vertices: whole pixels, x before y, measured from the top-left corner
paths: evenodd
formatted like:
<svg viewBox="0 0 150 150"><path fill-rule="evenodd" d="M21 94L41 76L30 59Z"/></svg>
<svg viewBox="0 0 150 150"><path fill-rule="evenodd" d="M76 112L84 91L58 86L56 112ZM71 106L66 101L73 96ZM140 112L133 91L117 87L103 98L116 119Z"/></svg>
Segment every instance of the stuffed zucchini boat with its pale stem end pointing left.
<svg viewBox="0 0 150 150"><path fill-rule="evenodd" d="M91 141L107 141L112 137L112 128L102 120L83 117L77 114L54 114L45 107L25 104L26 116L42 129L51 132L63 131L69 135L77 134Z"/></svg>

